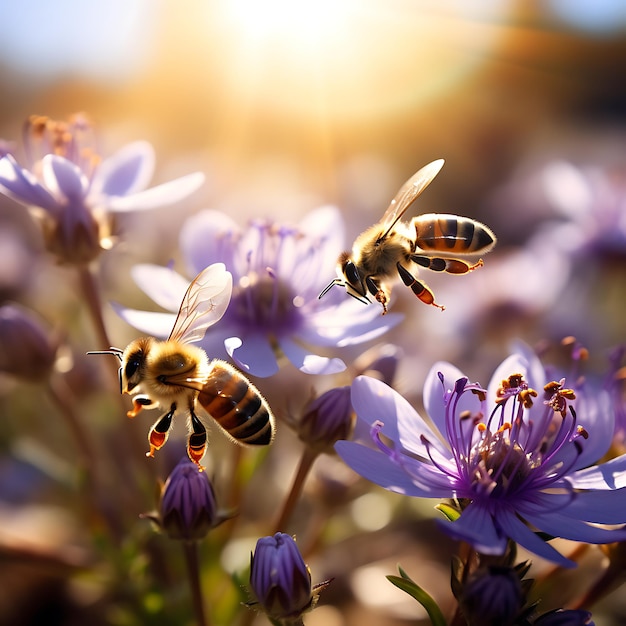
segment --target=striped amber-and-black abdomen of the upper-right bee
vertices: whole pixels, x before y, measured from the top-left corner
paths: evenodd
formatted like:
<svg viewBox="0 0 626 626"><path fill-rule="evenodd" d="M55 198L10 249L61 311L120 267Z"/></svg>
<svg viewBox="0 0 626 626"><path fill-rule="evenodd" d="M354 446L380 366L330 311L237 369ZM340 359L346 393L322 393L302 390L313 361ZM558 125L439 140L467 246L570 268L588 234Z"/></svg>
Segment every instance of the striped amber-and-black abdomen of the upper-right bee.
<svg viewBox="0 0 626 626"><path fill-rule="evenodd" d="M443 254L488 252L496 242L487 226L459 215L427 213L411 220L415 226L415 245L421 250Z"/></svg>

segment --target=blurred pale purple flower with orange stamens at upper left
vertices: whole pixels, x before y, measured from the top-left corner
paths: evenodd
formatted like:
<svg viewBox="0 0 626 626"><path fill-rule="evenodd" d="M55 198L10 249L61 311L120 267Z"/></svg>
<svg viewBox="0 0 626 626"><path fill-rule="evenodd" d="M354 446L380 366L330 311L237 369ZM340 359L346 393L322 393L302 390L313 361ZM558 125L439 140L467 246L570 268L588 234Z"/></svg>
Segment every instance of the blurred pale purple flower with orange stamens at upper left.
<svg viewBox="0 0 626 626"><path fill-rule="evenodd" d="M87 263L113 245L113 214L171 204L195 191L200 173L146 190L154 151L138 141L101 161L82 115L58 122L33 115L26 124L29 163L0 159L0 192L26 205L42 226L46 247L65 263Z"/></svg>

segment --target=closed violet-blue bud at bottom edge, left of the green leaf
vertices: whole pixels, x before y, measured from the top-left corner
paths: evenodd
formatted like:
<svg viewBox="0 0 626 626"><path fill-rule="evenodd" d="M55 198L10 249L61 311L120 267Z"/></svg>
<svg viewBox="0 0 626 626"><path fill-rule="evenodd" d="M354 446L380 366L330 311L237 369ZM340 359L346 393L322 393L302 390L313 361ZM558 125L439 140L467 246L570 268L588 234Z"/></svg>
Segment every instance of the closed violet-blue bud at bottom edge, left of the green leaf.
<svg viewBox="0 0 626 626"><path fill-rule="evenodd" d="M250 587L270 619L295 619L311 608L311 573L292 537L262 537L250 561Z"/></svg>

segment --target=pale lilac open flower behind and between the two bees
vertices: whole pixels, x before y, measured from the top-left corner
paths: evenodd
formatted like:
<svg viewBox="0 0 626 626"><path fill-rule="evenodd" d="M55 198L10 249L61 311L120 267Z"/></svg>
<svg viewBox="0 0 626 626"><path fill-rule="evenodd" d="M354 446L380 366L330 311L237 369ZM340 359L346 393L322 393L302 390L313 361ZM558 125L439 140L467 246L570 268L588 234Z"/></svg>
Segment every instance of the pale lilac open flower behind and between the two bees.
<svg viewBox="0 0 626 626"><path fill-rule="evenodd" d="M381 318L374 307L339 297L318 299L334 272L342 233L339 212L331 207L310 213L298 226L255 220L243 231L218 211L188 219L180 248L189 273L222 262L233 275L233 297L219 327L204 340L207 353L221 357L225 352L255 376L275 374L281 355L307 374L332 374L345 369L344 362L314 354L309 345L358 344L394 326L401 316ZM189 281L171 268L154 265L137 265L132 275L172 314L121 307L118 313L143 332L167 336Z"/></svg>

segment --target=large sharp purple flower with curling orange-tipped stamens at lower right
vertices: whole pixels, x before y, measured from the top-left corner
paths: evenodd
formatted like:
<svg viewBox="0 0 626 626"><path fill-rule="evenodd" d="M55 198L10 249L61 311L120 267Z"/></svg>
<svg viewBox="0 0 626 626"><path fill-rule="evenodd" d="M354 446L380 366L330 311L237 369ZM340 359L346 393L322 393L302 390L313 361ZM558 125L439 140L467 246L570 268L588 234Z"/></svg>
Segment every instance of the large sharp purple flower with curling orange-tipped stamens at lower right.
<svg viewBox="0 0 626 626"><path fill-rule="evenodd" d="M596 525L626 523L626 455L591 465L611 443L614 417L589 396L577 415L575 395L565 380L547 380L528 350L506 359L487 389L438 363L424 388L431 426L391 388L359 377L352 403L376 449L335 448L386 489L455 499L460 516L441 526L479 552L503 554L511 539L571 567L536 530L588 543L626 539L623 528Z"/></svg>

